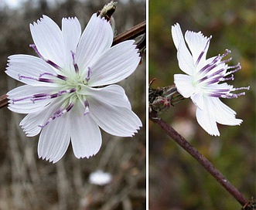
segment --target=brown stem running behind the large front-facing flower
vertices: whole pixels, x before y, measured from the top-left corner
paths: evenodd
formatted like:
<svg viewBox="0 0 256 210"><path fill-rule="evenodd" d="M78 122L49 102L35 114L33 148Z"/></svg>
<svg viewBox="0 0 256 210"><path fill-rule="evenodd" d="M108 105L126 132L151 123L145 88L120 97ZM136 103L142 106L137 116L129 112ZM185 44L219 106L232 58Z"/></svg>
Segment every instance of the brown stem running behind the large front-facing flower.
<svg viewBox="0 0 256 210"><path fill-rule="evenodd" d="M128 39L135 39L137 36L140 36L143 33L145 33L145 31L146 31L145 29L146 29L145 22L141 22L138 25L135 25L131 29L128 29L127 31L122 32L118 36L115 36L112 46L117 45L118 43L123 42ZM0 109L2 107L5 107L7 104L8 104L7 95L2 95L0 97Z"/></svg>

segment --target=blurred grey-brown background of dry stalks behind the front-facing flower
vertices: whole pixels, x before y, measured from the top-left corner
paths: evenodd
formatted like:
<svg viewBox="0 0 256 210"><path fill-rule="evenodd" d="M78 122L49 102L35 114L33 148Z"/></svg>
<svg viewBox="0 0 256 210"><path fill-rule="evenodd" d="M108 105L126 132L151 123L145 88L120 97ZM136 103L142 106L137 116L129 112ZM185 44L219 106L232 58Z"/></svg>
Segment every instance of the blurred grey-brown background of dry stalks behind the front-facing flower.
<svg viewBox="0 0 256 210"><path fill-rule="evenodd" d="M7 4L6 2L9 2ZM0 96L20 85L5 75L7 58L36 53L29 44L29 23L48 15L58 25L77 16L84 30L90 16L107 1L20 0L0 2ZM109 2L109 1L108 1ZM144 0L119 0L114 12L118 33L145 21ZM103 144L93 158L74 157L70 147L52 164L37 156L38 138L26 137L19 127L25 115L0 110L0 209L145 209L145 59L124 87L143 127L135 137L114 137L102 131ZM108 185L89 183L90 173L111 174Z"/></svg>

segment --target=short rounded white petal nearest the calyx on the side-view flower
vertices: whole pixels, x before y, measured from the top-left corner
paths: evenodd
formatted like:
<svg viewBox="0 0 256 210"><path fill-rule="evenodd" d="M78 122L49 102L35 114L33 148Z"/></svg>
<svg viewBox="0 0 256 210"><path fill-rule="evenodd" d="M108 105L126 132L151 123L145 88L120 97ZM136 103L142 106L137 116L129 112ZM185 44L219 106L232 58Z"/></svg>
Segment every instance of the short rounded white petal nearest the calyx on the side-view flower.
<svg viewBox="0 0 256 210"><path fill-rule="evenodd" d="M193 93L195 93L195 88L192 85L192 76L188 76L185 74L175 74L174 75L174 83L176 84L176 88L180 94L185 98L191 97Z"/></svg>

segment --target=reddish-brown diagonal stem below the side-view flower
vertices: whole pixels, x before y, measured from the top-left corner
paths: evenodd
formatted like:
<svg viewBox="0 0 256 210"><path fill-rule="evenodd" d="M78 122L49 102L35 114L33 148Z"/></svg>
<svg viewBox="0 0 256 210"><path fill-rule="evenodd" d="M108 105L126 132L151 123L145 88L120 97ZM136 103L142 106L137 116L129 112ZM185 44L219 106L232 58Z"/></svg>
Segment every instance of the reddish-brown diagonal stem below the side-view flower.
<svg viewBox="0 0 256 210"><path fill-rule="evenodd" d="M162 130L166 131L166 134L168 134L169 137L176 141L179 146L183 147L183 149L185 149L193 158L195 158L196 161L199 161L200 164L202 164L203 167L207 169L207 171L213 176L213 178L220 182L220 185L224 186L224 188L226 188L226 190L237 199L237 202L239 202L242 206L247 205L248 201L246 198L244 198L244 195L242 195L241 192L238 191L237 188L235 188L234 185L232 185L230 181L228 181L227 178L225 178L224 175L221 174L220 171L218 171L217 168L215 168L213 164L207 160L207 158L203 157L203 154L200 154L195 147L189 144L184 137L182 137L164 120L159 119L157 113L154 111L149 113L149 119L155 124L158 124Z"/></svg>

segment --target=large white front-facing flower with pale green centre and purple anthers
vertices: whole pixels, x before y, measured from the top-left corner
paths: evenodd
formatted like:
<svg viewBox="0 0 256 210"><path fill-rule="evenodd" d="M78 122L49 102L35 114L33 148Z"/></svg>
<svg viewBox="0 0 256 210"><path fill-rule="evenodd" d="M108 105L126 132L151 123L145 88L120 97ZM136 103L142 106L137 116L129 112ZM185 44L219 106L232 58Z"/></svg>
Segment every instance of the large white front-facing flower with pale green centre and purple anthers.
<svg viewBox="0 0 256 210"><path fill-rule="evenodd" d="M30 24L38 57L9 56L9 76L22 83L9 91L9 109L28 113L20 125L28 137L39 134L39 158L59 161L72 144L77 158L89 158L101 147L101 129L131 137L141 120L131 110L118 83L131 75L140 57L134 41L111 47L113 32L104 19L92 15L81 34L77 18ZM109 86L106 86L109 85ZM101 86L101 87L99 87Z"/></svg>

